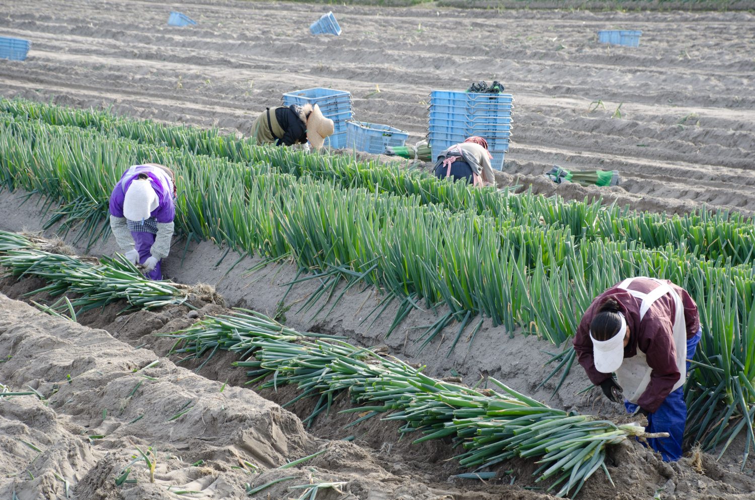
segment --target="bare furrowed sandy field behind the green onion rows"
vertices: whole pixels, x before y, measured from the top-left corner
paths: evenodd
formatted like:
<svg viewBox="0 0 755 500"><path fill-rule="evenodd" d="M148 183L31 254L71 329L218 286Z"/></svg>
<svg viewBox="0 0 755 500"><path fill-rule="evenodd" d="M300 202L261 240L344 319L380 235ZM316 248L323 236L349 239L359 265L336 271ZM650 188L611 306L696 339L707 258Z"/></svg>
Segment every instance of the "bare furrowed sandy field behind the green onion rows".
<svg viewBox="0 0 755 500"><path fill-rule="evenodd" d="M248 133L282 93L333 87L350 90L359 120L400 127L416 141L427 132L430 90L495 78L516 104L504 170L536 191L605 195L649 210L755 211L748 12L221 1L182 5L198 24L179 28L166 24L173 9L11 2L0 28L31 40L32 50L23 63L0 61L0 93ZM328 10L343 34L310 35ZM597 43L599 29L643 35L639 48L608 46ZM368 97L376 86L381 92ZM556 189L537 177L553 164L619 170L623 182Z"/></svg>

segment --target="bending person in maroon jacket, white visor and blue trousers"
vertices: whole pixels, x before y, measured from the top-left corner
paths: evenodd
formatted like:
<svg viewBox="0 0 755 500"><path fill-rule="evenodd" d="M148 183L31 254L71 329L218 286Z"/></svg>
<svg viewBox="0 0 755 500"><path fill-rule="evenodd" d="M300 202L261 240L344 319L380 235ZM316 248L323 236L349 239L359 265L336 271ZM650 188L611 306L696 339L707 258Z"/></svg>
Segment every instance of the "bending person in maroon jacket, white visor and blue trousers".
<svg viewBox="0 0 755 500"><path fill-rule="evenodd" d="M682 456L683 385L701 331L698 307L686 290L639 277L593 300L574 339L579 363L606 397L647 416L646 431L670 434L649 439L665 462Z"/></svg>

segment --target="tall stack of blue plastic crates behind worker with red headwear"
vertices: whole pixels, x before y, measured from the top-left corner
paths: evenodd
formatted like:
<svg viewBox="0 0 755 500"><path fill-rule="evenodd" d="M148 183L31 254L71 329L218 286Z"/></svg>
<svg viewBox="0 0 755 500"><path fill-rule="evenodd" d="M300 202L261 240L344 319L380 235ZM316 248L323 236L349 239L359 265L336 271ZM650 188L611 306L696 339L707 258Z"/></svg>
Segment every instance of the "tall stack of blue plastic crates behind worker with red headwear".
<svg viewBox="0 0 755 500"><path fill-rule="evenodd" d="M488 141L492 167L502 170L511 136L511 94L473 94L464 91L433 90L430 93L429 132L433 161L450 146L467 137Z"/></svg>

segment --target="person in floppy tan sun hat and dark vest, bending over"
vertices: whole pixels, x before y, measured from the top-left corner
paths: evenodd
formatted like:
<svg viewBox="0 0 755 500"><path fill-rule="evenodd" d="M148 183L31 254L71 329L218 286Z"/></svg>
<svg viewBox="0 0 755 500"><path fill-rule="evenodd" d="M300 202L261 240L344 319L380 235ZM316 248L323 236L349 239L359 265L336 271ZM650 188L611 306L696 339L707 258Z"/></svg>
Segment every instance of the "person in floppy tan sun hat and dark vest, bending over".
<svg viewBox="0 0 755 500"><path fill-rule="evenodd" d="M309 141L310 146L319 150L333 130L333 121L322 115L319 106L291 104L262 112L251 125L251 137L259 146L291 146Z"/></svg>

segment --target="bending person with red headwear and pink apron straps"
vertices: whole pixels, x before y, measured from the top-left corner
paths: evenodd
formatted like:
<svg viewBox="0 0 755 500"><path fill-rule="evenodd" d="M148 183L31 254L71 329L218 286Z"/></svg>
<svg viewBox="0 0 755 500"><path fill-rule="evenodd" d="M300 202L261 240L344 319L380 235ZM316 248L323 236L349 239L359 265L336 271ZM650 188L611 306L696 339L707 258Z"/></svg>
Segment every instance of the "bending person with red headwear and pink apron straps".
<svg viewBox="0 0 755 500"><path fill-rule="evenodd" d="M495 186L495 176L490 165L492 155L488 141L482 137L469 137L464 143L451 146L438 155L433 173L439 179L465 179L473 186Z"/></svg>

